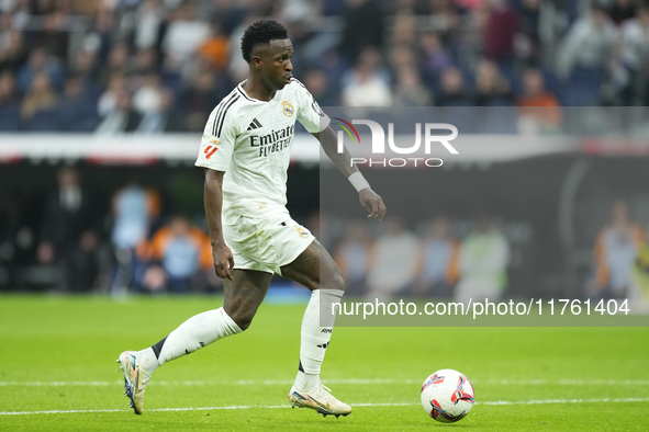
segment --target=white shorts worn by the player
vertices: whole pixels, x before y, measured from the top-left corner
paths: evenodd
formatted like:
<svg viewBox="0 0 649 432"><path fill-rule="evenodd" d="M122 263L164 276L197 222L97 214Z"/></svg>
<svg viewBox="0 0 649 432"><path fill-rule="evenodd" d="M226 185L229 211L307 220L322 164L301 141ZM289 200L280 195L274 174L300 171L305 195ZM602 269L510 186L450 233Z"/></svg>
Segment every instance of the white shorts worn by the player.
<svg viewBox="0 0 649 432"><path fill-rule="evenodd" d="M288 213L266 218L238 216L223 224L223 239L234 255L234 268L281 275L315 239L309 229Z"/></svg>

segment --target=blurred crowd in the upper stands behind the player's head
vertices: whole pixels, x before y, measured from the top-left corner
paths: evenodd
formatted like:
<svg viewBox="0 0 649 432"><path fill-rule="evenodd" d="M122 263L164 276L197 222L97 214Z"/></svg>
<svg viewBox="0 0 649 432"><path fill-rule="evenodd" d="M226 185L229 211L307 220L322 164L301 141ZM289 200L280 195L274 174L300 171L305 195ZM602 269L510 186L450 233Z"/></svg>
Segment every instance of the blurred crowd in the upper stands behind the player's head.
<svg viewBox="0 0 649 432"><path fill-rule="evenodd" d="M0 0L0 130L200 132L287 25L322 106L647 105L640 0ZM549 128L559 111L544 111Z"/></svg>

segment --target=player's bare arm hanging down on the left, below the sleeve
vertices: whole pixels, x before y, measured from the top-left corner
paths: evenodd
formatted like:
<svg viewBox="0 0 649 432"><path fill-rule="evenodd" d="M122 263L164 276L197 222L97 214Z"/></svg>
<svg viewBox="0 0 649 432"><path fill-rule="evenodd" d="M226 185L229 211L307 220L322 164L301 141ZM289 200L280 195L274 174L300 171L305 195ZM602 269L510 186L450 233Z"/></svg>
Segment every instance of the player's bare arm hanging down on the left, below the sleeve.
<svg viewBox="0 0 649 432"><path fill-rule="evenodd" d="M205 203L205 216L210 227L210 243L212 245L212 258L214 271L221 278L233 280L232 269L234 257L223 240L223 224L221 211L223 208L223 171L205 170L205 189L203 201Z"/></svg>

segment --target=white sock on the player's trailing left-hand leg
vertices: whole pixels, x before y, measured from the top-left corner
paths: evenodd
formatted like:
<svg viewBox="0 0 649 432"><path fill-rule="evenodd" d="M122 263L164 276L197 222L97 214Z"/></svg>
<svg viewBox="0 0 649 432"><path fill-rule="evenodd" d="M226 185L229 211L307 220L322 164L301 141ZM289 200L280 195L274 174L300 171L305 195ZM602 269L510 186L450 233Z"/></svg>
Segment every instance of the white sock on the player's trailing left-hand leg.
<svg viewBox="0 0 649 432"><path fill-rule="evenodd" d="M223 307L208 310L191 317L155 345L139 351L139 366L150 374L171 360L242 331Z"/></svg>

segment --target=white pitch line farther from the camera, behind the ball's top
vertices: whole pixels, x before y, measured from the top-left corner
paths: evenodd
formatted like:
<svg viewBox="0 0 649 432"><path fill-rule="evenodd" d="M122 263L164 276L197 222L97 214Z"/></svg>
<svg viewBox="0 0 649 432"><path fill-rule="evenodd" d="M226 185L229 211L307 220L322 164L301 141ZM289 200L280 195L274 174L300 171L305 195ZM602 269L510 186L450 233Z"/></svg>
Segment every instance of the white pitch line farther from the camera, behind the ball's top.
<svg viewBox="0 0 649 432"><path fill-rule="evenodd" d="M373 385L373 384L421 384L415 379L323 379L324 384L331 385ZM560 385L560 386L649 386L649 379L486 379L473 380L473 384L479 385L522 385L522 386L539 386L539 385ZM0 382L0 387L10 386L25 386L25 387L108 387L119 386L123 384L122 379L115 380L51 380L51 382L19 382L7 380ZM293 384L293 379L238 379L233 382L219 380L154 380L153 386L284 386Z"/></svg>

